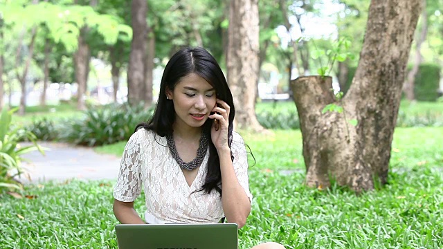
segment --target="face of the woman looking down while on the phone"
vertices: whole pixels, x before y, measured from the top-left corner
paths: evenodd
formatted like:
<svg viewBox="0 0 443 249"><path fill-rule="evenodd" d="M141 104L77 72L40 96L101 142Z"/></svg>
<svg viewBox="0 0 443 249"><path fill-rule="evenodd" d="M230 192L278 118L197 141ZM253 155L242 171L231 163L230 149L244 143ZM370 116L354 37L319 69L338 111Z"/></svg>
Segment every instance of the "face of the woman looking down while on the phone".
<svg viewBox="0 0 443 249"><path fill-rule="evenodd" d="M214 87L196 73L183 77L174 91L166 90L166 95L174 103L174 125L185 129L203 126L217 98Z"/></svg>

